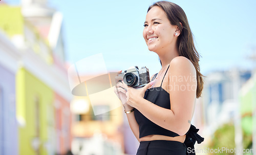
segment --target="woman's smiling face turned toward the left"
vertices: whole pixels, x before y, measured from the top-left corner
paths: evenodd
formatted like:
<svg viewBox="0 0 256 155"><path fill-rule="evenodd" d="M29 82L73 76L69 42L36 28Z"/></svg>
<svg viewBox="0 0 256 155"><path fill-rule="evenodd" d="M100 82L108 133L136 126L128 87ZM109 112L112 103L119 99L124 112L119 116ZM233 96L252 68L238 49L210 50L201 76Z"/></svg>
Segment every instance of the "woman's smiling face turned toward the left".
<svg viewBox="0 0 256 155"><path fill-rule="evenodd" d="M148 50L159 53L168 51L172 46L176 46L177 26L170 24L165 12L158 6L153 7L146 14L143 37ZM176 37L176 38L175 38Z"/></svg>

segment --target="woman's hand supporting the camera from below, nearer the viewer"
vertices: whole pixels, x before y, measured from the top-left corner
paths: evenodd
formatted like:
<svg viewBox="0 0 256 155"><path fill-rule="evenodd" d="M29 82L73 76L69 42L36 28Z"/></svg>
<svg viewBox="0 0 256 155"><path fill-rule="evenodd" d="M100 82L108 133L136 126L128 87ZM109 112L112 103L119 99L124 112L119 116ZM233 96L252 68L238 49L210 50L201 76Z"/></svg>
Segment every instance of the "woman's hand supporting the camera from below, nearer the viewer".
<svg viewBox="0 0 256 155"><path fill-rule="evenodd" d="M145 94L146 90L148 88L150 88L154 83L155 83L155 81L152 81L150 83L147 83L144 87L139 88L139 89L135 89L131 86L127 86L126 84L124 84L124 87L127 90L127 92L125 94L127 104L136 108L138 105L138 101L140 99L144 98L144 94Z"/></svg>

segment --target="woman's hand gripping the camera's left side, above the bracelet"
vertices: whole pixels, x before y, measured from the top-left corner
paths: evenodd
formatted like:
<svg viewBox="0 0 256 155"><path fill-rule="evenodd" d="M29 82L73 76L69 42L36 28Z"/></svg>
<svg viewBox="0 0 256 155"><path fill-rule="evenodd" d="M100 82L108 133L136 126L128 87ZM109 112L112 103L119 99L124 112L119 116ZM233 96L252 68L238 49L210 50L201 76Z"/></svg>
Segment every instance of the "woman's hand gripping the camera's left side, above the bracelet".
<svg viewBox="0 0 256 155"><path fill-rule="evenodd" d="M132 110L133 107L127 104L127 97L125 95L127 90L124 88L123 77L118 76L119 74L121 74L121 71L118 72L117 76L115 77L116 86L114 88L114 92L117 95L117 97L121 100L124 110L129 111Z"/></svg>

